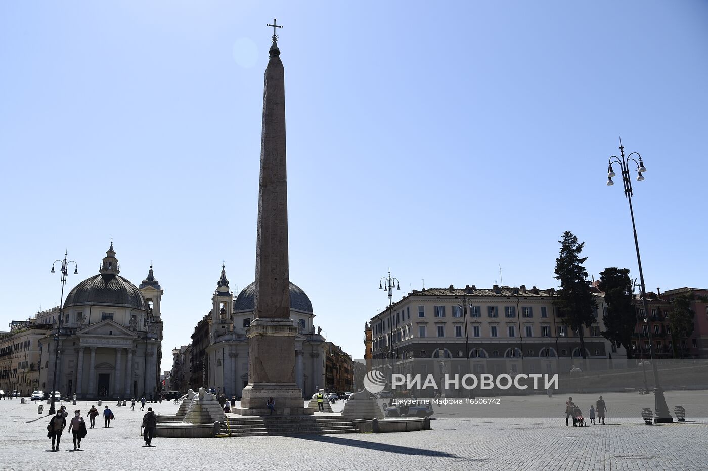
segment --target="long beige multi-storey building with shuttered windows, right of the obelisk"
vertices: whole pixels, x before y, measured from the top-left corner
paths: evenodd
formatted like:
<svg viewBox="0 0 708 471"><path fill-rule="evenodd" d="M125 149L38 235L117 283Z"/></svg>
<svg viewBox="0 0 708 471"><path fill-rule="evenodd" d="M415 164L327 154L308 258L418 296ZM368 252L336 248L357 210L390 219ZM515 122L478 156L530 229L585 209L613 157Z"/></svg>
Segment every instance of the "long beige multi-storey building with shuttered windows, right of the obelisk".
<svg viewBox="0 0 708 471"><path fill-rule="evenodd" d="M604 330L603 294L583 329L587 359L627 355ZM413 290L369 322L372 359L467 359L476 373L555 373L583 366L578 332L563 325L554 289L494 285Z"/></svg>

